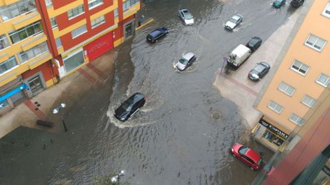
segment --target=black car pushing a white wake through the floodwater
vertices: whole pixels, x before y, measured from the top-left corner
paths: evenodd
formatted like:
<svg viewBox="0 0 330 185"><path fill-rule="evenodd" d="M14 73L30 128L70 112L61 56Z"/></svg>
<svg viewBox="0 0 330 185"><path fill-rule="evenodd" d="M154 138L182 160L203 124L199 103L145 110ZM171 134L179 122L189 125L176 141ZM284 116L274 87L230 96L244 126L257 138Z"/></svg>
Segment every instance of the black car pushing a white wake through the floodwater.
<svg viewBox="0 0 330 185"><path fill-rule="evenodd" d="M129 99L126 99L124 103L122 103L119 108L115 110L113 115L119 120L119 121L126 121L131 117L137 110L140 110L144 106L144 103L146 103L146 99L144 98L144 95L142 93L135 93Z"/></svg>

